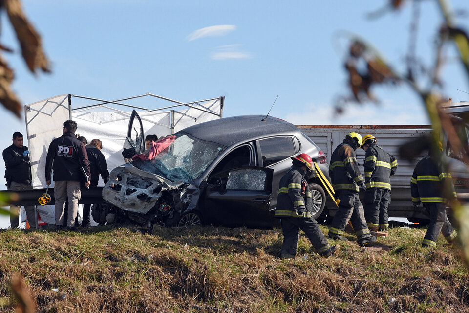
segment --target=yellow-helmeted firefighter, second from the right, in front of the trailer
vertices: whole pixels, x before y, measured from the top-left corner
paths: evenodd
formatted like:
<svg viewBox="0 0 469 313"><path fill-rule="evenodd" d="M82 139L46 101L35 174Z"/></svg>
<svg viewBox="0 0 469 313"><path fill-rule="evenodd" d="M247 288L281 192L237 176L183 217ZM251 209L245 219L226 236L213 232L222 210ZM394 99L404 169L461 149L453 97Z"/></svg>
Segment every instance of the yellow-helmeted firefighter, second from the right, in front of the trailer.
<svg viewBox="0 0 469 313"><path fill-rule="evenodd" d="M387 207L391 201L391 176L397 170L396 158L377 145L377 141L373 135L365 135L362 142L365 151L365 219L372 231L389 227Z"/></svg>

